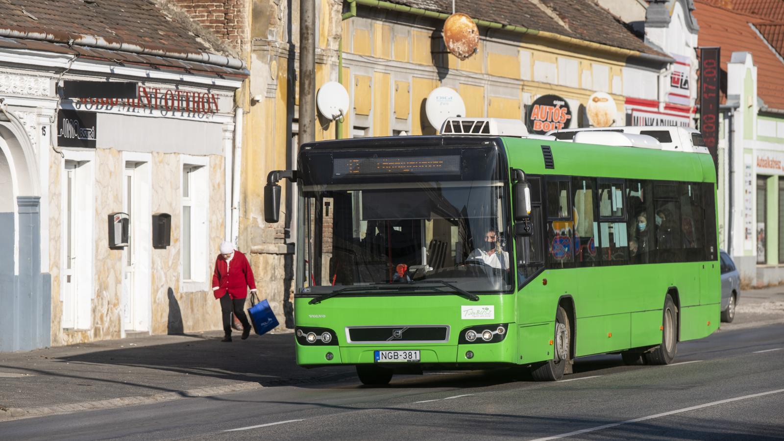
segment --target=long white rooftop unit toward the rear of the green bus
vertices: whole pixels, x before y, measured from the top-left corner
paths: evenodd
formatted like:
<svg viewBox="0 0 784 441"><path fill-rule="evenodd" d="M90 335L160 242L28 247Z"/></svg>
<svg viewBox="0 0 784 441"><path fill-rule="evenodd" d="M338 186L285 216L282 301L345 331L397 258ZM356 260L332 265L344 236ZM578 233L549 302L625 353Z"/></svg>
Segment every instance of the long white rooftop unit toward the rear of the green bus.
<svg viewBox="0 0 784 441"><path fill-rule="evenodd" d="M662 144L662 150L691 151L708 153L702 134L690 127L677 126L620 126L620 127L584 127L582 129L550 130L547 135L557 140L574 140L579 132L619 132L648 135Z"/></svg>

